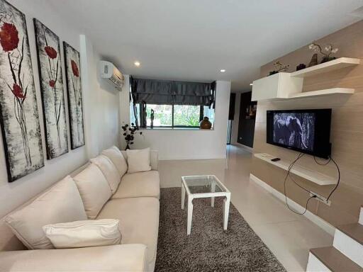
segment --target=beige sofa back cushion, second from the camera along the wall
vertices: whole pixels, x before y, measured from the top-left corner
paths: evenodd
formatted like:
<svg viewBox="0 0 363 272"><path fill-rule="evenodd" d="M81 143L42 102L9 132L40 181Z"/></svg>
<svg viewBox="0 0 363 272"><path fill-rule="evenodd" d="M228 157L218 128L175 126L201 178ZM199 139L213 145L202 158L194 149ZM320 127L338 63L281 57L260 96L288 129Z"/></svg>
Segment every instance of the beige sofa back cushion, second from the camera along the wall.
<svg viewBox="0 0 363 272"><path fill-rule="evenodd" d="M87 216L91 219L96 218L112 195L104 174L95 164L89 164L86 169L74 176L73 179L81 194Z"/></svg>

